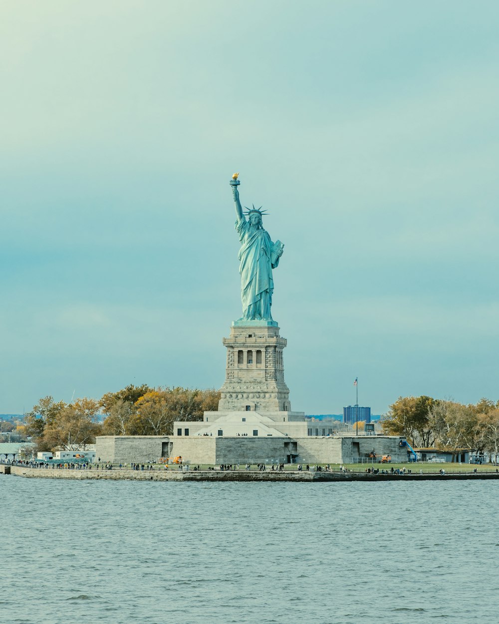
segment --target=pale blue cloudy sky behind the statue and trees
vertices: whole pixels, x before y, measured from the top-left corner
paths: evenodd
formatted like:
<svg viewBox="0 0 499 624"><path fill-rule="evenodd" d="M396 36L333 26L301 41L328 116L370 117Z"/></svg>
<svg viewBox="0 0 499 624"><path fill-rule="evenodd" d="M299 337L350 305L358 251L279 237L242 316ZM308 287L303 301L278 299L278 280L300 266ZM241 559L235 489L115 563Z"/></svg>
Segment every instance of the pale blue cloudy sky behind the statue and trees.
<svg viewBox="0 0 499 624"><path fill-rule="evenodd" d="M229 181L295 411L499 399L495 0L0 4L0 412L220 388Z"/></svg>

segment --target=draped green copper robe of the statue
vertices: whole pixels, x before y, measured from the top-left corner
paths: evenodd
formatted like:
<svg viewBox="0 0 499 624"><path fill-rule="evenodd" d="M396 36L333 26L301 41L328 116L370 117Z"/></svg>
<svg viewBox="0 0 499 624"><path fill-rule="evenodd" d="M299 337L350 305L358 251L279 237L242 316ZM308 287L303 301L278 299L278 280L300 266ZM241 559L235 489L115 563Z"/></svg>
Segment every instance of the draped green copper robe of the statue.
<svg viewBox="0 0 499 624"><path fill-rule="evenodd" d="M255 228L245 218L236 221L241 249L239 251L239 272L241 274L241 320L271 321L270 308L274 280L272 269L279 264L279 258L271 261L273 243L263 228Z"/></svg>

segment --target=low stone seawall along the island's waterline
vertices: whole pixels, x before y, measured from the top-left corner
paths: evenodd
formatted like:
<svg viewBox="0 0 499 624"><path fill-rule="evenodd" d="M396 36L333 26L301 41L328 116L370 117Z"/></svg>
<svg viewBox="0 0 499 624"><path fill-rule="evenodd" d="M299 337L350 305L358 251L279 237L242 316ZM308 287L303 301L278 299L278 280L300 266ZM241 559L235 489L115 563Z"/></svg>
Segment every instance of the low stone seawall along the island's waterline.
<svg viewBox="0 0 499 624"><path fill-rule="evenodd" d="M0 465L0 475L24 477L25 479L73 479L73 480L129 480L129 481L267 481L295 483L325 482L379 482L379 481L428 481L499 479L497 472L453 472L445 475L424 474L368 474L366 472L276 472L272 470L71 470L29 468L26 466Z"/></svg>

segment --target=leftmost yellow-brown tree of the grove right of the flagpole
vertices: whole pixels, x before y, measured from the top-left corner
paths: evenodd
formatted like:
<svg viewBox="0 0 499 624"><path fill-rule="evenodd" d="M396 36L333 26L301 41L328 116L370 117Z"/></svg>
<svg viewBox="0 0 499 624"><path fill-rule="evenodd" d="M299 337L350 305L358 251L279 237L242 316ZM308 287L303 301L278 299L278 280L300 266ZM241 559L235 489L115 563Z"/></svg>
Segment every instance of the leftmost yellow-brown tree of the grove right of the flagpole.
<svg viewBox="0 0 499 624"><path fill-rule="evenodd" d="M429 409L435 399L429 396L407 396L390 405L382 420L382 429L391 436L404 436L416 447L430 447L434 436L429 422Z"/></svg>

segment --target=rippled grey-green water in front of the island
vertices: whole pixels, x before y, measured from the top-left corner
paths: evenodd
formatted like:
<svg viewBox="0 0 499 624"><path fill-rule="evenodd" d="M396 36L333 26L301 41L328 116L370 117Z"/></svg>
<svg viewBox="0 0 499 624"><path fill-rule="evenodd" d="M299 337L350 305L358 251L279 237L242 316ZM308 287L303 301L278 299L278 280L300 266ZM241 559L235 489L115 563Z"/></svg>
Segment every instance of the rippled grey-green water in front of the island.
<svg viewBox="0 0 499 624"><path fill-rule="evenodd" d="M498 482L0 477L0 622L497 621Z"/></svg>

